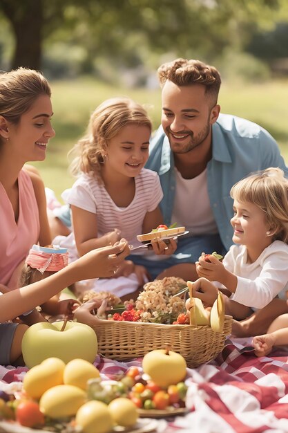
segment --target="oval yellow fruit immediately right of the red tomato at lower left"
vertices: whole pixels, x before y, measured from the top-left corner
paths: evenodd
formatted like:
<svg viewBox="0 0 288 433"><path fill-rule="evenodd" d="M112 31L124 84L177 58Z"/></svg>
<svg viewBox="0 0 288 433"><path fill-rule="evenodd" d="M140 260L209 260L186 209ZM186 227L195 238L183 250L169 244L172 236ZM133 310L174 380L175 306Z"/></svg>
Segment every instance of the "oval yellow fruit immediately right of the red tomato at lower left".
<svg viewBox="0 0 288 433"><path fill-rule="evenodd" d="M57 385L44 392L40 398L40 410L50 418L73 416L86 402L86 392L73 385Z"/></svg>

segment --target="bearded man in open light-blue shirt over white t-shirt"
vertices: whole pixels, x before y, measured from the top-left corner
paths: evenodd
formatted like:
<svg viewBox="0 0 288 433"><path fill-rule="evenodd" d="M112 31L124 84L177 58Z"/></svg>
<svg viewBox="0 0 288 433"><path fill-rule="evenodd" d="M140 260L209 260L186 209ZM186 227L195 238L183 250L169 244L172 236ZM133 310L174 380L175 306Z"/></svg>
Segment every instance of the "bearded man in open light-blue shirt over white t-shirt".
<svg viewBox="0 0 288 433"><path fill-rule="evenodd" d="M201 253L227 252L232 244L230 189L251 172L288 169L271 135L253 122L220 114L220 73L198 60L176 59L158 69L162 86L162 126L151 142L146 167L160 175L164 223L189 230L166 260L133 256L135 264L161 274L196 278ZM150 258L150 257L149 257ZM188 270L188 272L186 272Z"/></svg>

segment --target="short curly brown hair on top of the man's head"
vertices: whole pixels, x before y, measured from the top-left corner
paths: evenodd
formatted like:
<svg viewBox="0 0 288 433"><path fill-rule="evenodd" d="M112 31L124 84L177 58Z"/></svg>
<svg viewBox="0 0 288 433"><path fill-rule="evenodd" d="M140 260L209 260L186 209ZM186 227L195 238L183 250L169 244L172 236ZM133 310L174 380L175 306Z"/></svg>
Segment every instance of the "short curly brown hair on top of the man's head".
<svg viewBox="0 0 288 433"><path fill-rule="evenodd" d="M157 72L161 87L167 80L177 86L202 84L206 88L205 93L213 96L215 104L217 103L221 77L214 66L200 60L175 59L162 64Z"/></svg>

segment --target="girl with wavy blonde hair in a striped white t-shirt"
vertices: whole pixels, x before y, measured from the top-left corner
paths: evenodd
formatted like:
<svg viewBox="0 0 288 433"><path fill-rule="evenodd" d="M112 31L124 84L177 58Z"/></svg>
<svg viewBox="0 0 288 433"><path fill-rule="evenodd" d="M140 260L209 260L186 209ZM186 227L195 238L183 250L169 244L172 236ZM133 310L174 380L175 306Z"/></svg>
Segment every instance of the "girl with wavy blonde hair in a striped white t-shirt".
<svg viewBox="0 0 288 433"><path fill-rule="evenodd" d="M159 177L144 169L150 136L151 120L143 107L131 99L106 100L91 115L86 136L72 150L77 156L71 171L79 178L66 196L80 256L120 237L139 246L137 234L151 232L163 223ZM157 255L171 255L175 249L173 239L168 244L153 243ZM137 252L150 253L144 248ZM131 293L147 281L147 271L126 260L115 277L128 276L134 278L132 290L126 279L121 293L115 291L122 299L125 289ZM109 282L109 291L112 286L113 282Z"/></svg>

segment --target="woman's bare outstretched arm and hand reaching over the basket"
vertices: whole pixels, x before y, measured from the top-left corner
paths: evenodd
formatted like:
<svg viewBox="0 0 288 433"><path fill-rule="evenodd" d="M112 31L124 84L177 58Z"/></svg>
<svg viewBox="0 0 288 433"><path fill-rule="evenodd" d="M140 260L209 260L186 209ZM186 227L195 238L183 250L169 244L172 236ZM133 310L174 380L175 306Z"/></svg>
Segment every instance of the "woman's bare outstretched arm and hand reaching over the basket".
<svg viewBox="0 0 288 433"><path fill-rule="evenodd" d="M128 244L122 239L117 245L88 252L59 272L26 287L0 296L0 322L12 320L22 313L46 302L67 286L97 277L111 277L117 266L130 254Z"/></svg>

